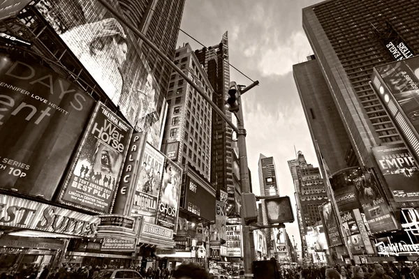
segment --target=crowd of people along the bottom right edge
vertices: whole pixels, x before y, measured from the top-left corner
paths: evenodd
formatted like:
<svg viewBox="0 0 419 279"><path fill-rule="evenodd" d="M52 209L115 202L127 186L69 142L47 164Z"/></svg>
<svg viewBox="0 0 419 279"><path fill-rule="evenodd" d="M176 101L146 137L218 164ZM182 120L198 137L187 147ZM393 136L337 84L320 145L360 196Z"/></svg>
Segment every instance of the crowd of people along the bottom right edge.
<svg viewBox="0 0 419 279"><path fill-rule="evenodd" d="M413 279L412 270L406 264L361 264L357 266L301 266L279 271L284 279Z"/></svg>

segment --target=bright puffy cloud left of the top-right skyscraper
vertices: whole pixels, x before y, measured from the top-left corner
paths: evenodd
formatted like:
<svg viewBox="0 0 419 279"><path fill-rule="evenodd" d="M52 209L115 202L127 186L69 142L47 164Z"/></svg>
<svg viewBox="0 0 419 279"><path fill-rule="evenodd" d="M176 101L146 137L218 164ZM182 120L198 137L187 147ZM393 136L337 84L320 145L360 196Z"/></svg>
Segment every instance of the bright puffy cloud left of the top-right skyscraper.
<svg viewBox="0 0 419 279"><path fill-rule="evenodd" d="M293 70L293 64L302 62L312 53L307 37L296 31L284 43L260 50L258 70L264 76L286 75Z"/></svg>

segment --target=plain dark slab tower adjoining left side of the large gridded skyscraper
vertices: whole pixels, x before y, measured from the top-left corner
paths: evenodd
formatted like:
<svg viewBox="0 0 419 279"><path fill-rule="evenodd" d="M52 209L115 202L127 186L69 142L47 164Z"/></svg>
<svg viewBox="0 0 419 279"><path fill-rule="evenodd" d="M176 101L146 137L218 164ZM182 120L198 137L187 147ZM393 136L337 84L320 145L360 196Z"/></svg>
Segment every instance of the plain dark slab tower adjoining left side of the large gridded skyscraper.
<svg viewBox="0 0 419 279"><path fill-rule="evenodd" d="M311 60L293 66L293 75L311 140L318 144L330 173L359 165L318 61L309 57Z"/></svg>

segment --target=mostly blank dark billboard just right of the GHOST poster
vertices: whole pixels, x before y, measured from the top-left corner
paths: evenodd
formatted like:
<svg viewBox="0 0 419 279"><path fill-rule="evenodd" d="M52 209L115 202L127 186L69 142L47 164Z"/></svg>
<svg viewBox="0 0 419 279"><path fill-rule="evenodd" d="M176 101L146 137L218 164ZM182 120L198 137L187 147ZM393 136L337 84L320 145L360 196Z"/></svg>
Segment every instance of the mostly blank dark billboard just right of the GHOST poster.
<svg viewBox="0 0 419 279"><path fill-rule="evenodd" d="M198 182L190 176L186 176L186 189L185 189L185 207L186 210L196 214L205 220L215 220L215 191L211 193L210 189L204 182Z"/></svg>

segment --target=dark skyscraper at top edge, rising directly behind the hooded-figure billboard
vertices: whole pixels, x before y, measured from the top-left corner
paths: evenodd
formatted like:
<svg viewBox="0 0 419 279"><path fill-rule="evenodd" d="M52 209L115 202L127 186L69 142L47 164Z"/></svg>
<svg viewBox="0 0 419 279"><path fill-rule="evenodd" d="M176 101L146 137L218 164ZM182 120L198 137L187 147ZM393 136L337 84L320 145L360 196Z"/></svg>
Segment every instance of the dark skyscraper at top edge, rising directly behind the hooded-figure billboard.
<svg viewBox="0 0 419 279"><path fill-rule="evenodd" d="M185 0L118 0L126 18L159 47L169 59L175 56L177 36L184 10ZM160 86L161 91L168 88L172 68L138 40L145 61ZM162 100L165 94L161 94Z"/></svg>

